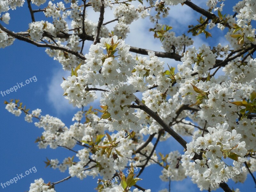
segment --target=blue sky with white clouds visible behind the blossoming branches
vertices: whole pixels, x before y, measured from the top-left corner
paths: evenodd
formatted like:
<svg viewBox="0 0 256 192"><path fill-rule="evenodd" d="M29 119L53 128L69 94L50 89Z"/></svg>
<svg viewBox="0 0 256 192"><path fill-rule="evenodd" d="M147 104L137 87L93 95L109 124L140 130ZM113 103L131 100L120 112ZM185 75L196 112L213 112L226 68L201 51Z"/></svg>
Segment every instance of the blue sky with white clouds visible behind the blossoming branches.
<svg viewBox="0 0 256 192"><path fill-rule="evenodd" d="M194 1L196 2L196 1ZM199 2L199 1L197 1ZM202 4L203 1L200 1ZM232 0L232 6L233 1ZM225 1L224 12L232 11L231 0ZM33 6L33 8L35 8ZM35 8L36 9L36 8ZM110 13L107 10L106 13ZM92 17L90 15L93 14ZM98 14L94 14L92 11L88 12L89 19L97 21ZM113 16L106 14L105 21L111 20ZM28 23L31 22L30 14L28 12L27 3L17 10L10 11L10 24L4 25L10 30L26 31L28 29ZM36 20L45 20L44 15L41 13L35 15ZM180 35L186 33L188 23L196 24L195 21L200 17L189 7L184 5L178 5L172 7L170 16L164 20L173 27L173 30ZM163 22L163 21L162 21ZM1 22L2 24L3 22ZM111 24L110 27L113 27ZM153 38L153 33L148 32L149 25L153 27L147 20L137 20L131 25L131 33L128 34L125 40L131 46L138 46L141 48L147 48L155 51L163 51L161 44L157 39ZM111 29L111 28L109 28ZM225 45L227 41L224 39L224 31L214 30L211 31L213 38L210 38L208 45L216 46L218 43ZM205 38L203 35L194 38L195 46L201 46L204 43ZM141 44L143 42L143 44ZM88 47L92 42L86 42L84 54L88 52ZM27 108L34 110L36 108L42 109L42 115L50 114L56 116L62 120L67 126L72 124L72 117L78 110L68 104L68 100L62 96L63 91L60 88L62 82L62 76L67 77L69 72L62 70L62 66L44 52L44 48L37 48L34 45L15 40L12 46L6 47L0 50L0 64L2 73L0 76L0 91L5 91L17 83L25 82L27 79L36 76L37 81L31 82L26 86L17 90L17 92L11 92L6 96L0 95L0 140L1 140L1 158L0 164L0 182L4 183L11 180L16 174L21 174L29 170L32 167L36 167L37 172L32 172L26 177L18 180L17 183L13 183L6 188L0 187L0 191L7 192L20 192L29 189L30 183L35 179L43 178L44 182L55 182L68 176L68 171L60 173L59 170L53 170L45 168L44 160L46 157L49 159L58 158L62 161L65 157L73 156L74 154L64 148L58 149L39 149L35 140L41 135L42 129L35 127L33 123L27 123L24 121L24 115L15 117L5 109L4 100L20 99ZM179 62L169 59L163 59L166 63L176 66ZM98 103L93 103L94 107L98 106ZM185 138L189 141L188 138ZM173 150L179 150L182 152L183 148L173 140L169 139L167 142L160 143L156 149L161 153L169 153ZM150 188L152 192L158 191L163 188L167 188L168 183L162 182L159 179L161 169L157 165L147 167L146 171L141 174L143 179L138 184L144 188ZM69 191L95 191L93 190L97 186L97 179L87 177L84 180L72 178L66 182L56 185L55 189L58 192ZM248 179L244 184L233 185L232 180L228 181L228 184L235 186L234 188L240 188L241 191L245 189L253 189L254 184L252 178L248 175ZM199 191L190 179L183 180L181 182L172 182L172 191ZM247 186L247 187L246 187ZM249 186L249 187L248 187ZM222 190L217 190L222 191Z"/></svg>

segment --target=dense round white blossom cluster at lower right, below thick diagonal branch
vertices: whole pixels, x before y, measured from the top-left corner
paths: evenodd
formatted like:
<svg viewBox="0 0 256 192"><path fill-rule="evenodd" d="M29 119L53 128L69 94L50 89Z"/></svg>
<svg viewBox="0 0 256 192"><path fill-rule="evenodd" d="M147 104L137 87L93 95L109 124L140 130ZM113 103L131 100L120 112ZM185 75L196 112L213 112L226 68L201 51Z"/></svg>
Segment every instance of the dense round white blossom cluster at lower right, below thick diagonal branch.
<svg viewBox="0 0 256 192"><path fill-rule="evenodd" d="M195 154L202 154L202 160L196 159L194 164L195 170L197 170L197 176L201 174L201 178L204 178L204 184L202 188L209 188L209 182L215 180L219 182L225 176L230 175L232 172L240 169L241 163L245 162L244 155L247 153L245 148L245 142L241 141L242 135L237 133L236 130L228 131L228 124L216 124L216 128L208 127L208 133L203 137L199 136L195 141L187 144L187 151L185 156L193 158ZM227 165L221 158L232 156L234 160L233 165ZM181 160L185 164L188 159ZM189 163L191 164L191 163ZM183 165L184 166L184 165ZM191 169L190 169L191 170ZM195 172L195 171L193 171ZM186 171L186 174L188 172ZM192 178L196 178L194 174L189 174ZM246 176L246 175L244 175ZM198 178L199 179L199 178ZM206 187L207 186L207 187ZM211 188L214 186L211 186Z"/></svg>

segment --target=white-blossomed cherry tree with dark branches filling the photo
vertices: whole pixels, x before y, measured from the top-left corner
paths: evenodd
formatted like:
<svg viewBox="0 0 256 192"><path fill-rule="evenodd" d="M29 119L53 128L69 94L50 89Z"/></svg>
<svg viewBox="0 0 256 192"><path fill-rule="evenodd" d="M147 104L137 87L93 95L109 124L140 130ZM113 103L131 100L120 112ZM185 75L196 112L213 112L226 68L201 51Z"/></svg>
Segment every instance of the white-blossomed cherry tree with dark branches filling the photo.
<svg viewBox="0 0 256 192"><path fill-rule="evenodd" d="M29 192L55 192L55 185L62 181L87 176L98 179L97 191L149 192L140 185L140 175L152 164L161 167L164 182L190 177L200 190L239 192L226 182L232 178L243 183L247 175L256 184L256 41L252 27L256 3L232 2L234 15L226 15L224 0L218 2L208 0L203 9L190 0L27 0L32 22L27 31L13 32L6 25L8 10L22 7L25 1L0 0L0 47L17 39L46 48L50 57L71 72L60 86L63 97L81 109L72 119L75 123L67 127L56 117L41 115L40 109L30 112L19 100L5 101L9 112L24 113L27 122L34 120L36 127L44 129L36 140L39 148L63 147L75 154L62 162L47 159L47 166L60 172L68 169L69 176L50 183L40 178ZM188 26L187 35L176 36L164 24L177 4L202 15L197 25ZM108 7L116 19L106 21ZM89 20L88 9L100 13L98 23ZM37 21L39 12L52 20ZM154 23L149 31L161 41L164 52L125 43L129 25L139 17L149 17ZM68 19L72 20L70 27ZM108 28L112 22L115 27ZM193 47L189 35L211 38L212 28L225 29L229 44ZM85 41L91 41L89 50L84 49ZM161 58L180 61L178 70L167 67ZM225 76L216 76L218 70ZM101 92L100 107L85 108L97 98L96 92ZM191 142L184 136L190 136ZM184 153L157 153L159 142L170 137ZM80 150L75 151L77 145ZM129 174L124 175L127 168Z"/></svg>

